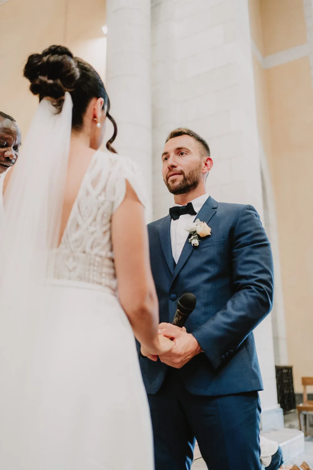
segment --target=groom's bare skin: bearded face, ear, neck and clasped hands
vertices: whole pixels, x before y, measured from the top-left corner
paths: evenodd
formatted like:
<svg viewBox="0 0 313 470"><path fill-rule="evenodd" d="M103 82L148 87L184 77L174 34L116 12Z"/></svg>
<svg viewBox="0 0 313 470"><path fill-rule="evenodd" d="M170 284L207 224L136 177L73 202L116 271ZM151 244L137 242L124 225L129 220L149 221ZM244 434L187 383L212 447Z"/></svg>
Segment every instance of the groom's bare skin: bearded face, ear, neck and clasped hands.
<svg viewBox="0 0 313 470"><path fill-rule="evenodd" d="M170 139L162 153L162 177L176 204L186 205L193 199L206 194L206 177L213 166L195 139L190 135L180 135ZM160 357L161 362L180 369L202 351L196 338L186 329L170 323L160 323L159 332L173 338L175 346ZM142 354L156 361L157 356Z"/></svg>

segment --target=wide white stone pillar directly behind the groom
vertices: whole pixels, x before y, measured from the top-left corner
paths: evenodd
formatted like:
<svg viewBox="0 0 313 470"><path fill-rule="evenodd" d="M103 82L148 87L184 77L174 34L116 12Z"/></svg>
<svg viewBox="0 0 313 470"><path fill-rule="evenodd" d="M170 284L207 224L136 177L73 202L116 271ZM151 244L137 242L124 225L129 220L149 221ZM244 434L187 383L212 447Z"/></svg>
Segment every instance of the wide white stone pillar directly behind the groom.
<svg viewBox="0 0 313 470"><path fill-rule="evenodd" d="M263 219L248 1L152 0L152 95L154 219L172 204L160 177L160 156L168 132L178 126L209 143L209 194L252 204ZM262 424L277 428L283 421L271 318L254 333L265 388Z"/></svg>

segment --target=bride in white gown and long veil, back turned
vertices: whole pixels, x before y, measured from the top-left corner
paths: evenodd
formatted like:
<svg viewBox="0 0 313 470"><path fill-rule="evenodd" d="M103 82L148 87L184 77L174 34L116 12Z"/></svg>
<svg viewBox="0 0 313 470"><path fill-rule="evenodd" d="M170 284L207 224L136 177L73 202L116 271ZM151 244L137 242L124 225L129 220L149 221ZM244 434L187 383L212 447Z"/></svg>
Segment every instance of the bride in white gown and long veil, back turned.
<svg viewBox="0 0 313 470"><path fill-rule="evenodd" d="M150 354L173 342L158 335L139 167L112 147L88 63L51 46L24 76L40 103L4 181L0 468L153 470L134 334Z"/></svg>

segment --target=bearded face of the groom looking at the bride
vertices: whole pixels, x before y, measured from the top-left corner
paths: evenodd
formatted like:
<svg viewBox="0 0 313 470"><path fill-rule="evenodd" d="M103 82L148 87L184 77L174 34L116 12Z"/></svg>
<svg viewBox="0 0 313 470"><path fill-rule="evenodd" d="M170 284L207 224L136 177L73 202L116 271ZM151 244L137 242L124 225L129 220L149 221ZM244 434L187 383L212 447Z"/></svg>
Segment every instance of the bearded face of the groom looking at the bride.
<svg viewBox="0 0 313 470"><path fill-rule="evenodd" d="M162 176L172 194L186 194L197 188L204 160L198 142L190 135L173 137L165 144L162 153Z"/></svg>

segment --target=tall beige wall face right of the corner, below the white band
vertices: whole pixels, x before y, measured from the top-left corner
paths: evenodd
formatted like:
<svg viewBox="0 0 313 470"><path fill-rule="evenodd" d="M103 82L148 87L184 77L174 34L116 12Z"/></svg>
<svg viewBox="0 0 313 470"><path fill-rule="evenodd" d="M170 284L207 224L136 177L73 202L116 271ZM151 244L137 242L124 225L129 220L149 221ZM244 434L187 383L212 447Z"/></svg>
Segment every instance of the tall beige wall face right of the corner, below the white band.
<svg viewBox="0 0 313 470"><path fill-rule="evenodd" d="M313 89L308 57L267 71L287 345L294 384L313 376Z"/></svg>

